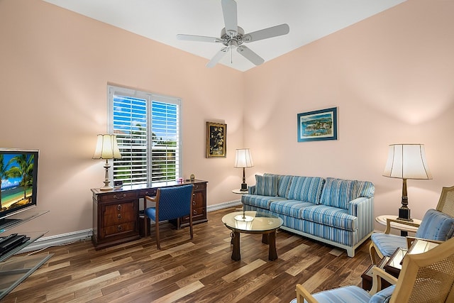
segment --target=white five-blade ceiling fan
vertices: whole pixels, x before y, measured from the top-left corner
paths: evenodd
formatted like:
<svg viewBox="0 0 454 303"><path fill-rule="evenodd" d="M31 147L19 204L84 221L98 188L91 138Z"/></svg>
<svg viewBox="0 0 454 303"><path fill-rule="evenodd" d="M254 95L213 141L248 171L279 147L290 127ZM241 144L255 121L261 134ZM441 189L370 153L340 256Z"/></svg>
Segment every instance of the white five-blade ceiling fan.
<svg viewBox="0 0 454 303"><path fill-rule="evenodd" d="M179 40L214 42L224 45L224 47L221 48L221 50L219 50L218 53L216 53L216 55L214 55L214 57L206 64L206 67L214 67L214 65L216 65L224 55L226 55L228 50L231 50L232 52L233 48L236 48L236 51L240 53L240 55L243 55L243 57L248 59L250 62L253 62L253 64L261 65L265 62L265 60L250 50L250 48L246 45L243 45L243 43L250 43L277 37L279 35L286 35L290 31L289 25L284 23L279 26L272 26L260 31L245 34L243 28L238 26L236 2L234 0L221 0L221 5L224 16L224 24L226 26L221 31L221 38L206 37L203 35L177 35L177 39Z"/></svg>

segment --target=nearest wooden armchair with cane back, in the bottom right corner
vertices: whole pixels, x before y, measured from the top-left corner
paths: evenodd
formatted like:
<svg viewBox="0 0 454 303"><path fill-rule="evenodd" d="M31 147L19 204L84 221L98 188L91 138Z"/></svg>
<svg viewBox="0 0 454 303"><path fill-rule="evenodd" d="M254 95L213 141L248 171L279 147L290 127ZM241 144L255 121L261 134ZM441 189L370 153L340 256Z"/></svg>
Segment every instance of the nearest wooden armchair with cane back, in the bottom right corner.
<svg viewBox="0 0 454 303"><path fill-rule="evenodd" d="M392 286L381 289L381 279ZM407 254L399 279L380 268L372 269L372 290L358 286L340 287L310 294L297 285L297 298L291 303L316 302L454 302L454 238L441 243L426 253Z"/></svg>

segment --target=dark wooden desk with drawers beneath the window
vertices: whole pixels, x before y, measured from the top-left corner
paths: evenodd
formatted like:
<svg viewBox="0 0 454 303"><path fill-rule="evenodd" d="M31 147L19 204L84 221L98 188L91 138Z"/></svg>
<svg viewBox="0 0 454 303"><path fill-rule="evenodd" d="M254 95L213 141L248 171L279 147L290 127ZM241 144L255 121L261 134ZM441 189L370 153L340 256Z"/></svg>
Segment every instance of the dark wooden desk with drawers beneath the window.
<svg viewBox="0 0 454 303"><path fill-rule="evenodd" d="M96 250L140 238L139 200L155 196L160 187L194 184L192 221L206 222L206 181L157 182L149 185L123 186L109 192L93 188L93 235ZM189 225L189 216L172 221L177 228Z"/></svg>

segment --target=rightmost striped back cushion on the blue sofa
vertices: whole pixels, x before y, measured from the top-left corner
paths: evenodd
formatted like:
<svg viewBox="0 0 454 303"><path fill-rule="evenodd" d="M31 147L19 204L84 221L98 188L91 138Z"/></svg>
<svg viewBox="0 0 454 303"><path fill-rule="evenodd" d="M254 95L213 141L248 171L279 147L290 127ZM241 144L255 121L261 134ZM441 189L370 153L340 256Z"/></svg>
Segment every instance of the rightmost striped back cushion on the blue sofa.
<svg viewBox="0 0 454 303"><path fill-rule="evenodd" d="M348 202L355 199L356 191L354 180L326 178L326 184L321 192L321 204L348 209Z"/></svg>

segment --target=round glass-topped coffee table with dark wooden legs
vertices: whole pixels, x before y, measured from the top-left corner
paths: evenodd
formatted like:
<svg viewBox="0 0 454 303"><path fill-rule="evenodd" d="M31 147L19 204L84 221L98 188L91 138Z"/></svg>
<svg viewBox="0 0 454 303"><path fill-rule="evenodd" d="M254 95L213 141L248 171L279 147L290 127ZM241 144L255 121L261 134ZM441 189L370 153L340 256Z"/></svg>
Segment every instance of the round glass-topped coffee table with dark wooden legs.
<svg viewBox="0 0 454 303"><path fill-rule="evenodd" d="M268 259L277 259L276 231L282 226L282 219L260 211L235 211L222 217L223 224L231 229L231 243L233 244L232 260L239 261L240 233L262 234L262 243L269 246Z"/></svg>

